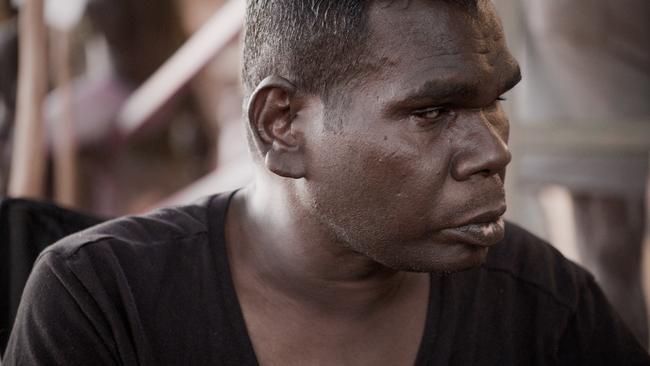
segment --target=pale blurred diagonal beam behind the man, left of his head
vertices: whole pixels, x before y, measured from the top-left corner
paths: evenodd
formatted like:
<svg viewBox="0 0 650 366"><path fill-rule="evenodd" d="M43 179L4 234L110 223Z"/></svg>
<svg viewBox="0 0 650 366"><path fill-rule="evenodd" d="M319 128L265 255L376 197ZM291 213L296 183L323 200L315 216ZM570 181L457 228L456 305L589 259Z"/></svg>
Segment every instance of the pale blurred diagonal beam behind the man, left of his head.
<svg viewBox="0 0 650 366"><path fill-rule="evenodd" d="M181 46L142 86L118 113L118 130L131 135L144 127L201 69L242 29L245 1L230 0Z"/></svg>

